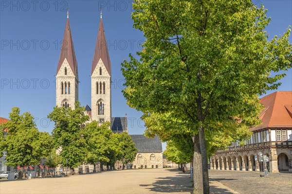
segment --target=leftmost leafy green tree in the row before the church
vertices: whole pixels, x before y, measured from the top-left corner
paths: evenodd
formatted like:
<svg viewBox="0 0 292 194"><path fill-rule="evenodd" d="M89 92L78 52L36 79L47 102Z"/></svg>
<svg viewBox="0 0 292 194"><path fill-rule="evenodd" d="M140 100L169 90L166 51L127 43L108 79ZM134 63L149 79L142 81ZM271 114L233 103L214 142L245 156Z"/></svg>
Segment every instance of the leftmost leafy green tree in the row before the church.
<svg viewBox="0 0 292 194"><path fill-rule="evenodd" d="M53 146L52 139L49 133L37 130L34 117L29 112L21 115L19 113L18 107L12 108L12 112L9 113L10 121L1 124L1 128L7 129L7 136L3 141L6 165L13 167L36 165L41 158L49 155Z"/></svg>

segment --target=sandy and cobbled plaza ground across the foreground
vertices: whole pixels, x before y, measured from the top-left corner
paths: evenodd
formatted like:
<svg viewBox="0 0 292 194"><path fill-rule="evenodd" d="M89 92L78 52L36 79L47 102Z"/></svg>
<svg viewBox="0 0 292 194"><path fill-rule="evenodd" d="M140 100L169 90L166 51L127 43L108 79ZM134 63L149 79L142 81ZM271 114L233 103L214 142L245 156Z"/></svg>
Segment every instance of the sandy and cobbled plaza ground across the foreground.
<svg viewBox="0 0 292 194"><path fill-rule="evenodd" d="M213 194L292 194L292 174L211 170ZM132 169L56 178L0 179L0 194L190 194L188 173Z"/></svg>

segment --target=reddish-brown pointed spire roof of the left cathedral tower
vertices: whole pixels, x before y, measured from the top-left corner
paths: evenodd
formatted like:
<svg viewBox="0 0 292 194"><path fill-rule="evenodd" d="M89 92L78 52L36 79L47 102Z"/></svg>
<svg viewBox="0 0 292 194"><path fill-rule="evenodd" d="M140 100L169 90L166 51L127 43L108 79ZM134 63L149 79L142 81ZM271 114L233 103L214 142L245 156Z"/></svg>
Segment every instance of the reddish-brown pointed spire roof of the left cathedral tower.
<svg viewBox="0 0 292 194"><path fill-rule="evenodd" d="M60 59L58 62L58 67L57 67L57 73L60 70L61 65L63 64L65 58L67 59L69 65L70 65L70 67L75 75L76 70L77 70L77 60L75 57L75 51L74 51L74 46L73 46L69 18L67 18L67 21L66 21L66 27L65 27L64 37L63 37L61 54L60 54Z"/></svg>

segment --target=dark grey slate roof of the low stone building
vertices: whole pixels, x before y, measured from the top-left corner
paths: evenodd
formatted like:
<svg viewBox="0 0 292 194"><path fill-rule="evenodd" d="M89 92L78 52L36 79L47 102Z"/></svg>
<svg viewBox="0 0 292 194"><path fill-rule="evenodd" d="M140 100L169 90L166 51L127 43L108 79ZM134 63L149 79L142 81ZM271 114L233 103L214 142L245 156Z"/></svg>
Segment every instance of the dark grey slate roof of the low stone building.
<svg viewBox="0 0 292 194"><path fill-rule="evenodd" d="M162 142L158 136L146 138L144 135L130 135L138 153L161 153Z"/></svg>

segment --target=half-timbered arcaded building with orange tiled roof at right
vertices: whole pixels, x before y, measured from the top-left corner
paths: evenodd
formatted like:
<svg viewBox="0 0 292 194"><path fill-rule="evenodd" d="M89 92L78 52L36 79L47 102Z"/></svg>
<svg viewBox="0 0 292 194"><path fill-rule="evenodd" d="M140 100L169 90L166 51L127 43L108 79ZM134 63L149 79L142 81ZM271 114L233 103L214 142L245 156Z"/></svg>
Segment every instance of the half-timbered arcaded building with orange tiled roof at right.
<svg viewBox="0 0 292 194"><path fill-rule="evenodd" d="M245 145L234 142L210 158L210 168L237 171L292 172L292 91L277 91L260 99L262 123L250 128ZM259 162L259 155L267 162Z"/></svg>

